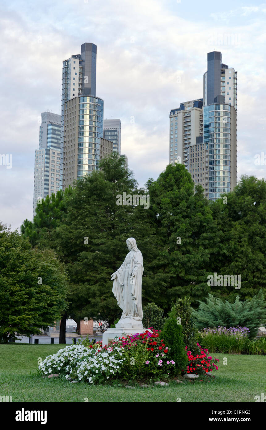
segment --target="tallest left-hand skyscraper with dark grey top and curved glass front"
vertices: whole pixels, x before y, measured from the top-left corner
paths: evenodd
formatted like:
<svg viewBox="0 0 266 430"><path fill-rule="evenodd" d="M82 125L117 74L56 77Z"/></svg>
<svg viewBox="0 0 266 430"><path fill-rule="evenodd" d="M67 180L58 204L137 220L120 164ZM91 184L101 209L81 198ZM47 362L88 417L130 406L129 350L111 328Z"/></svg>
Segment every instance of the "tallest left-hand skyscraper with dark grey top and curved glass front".
<svg viewBox="0 0 266 430"><path fill-rule="evenodd" d="M81 53L63 61L60 186L97 170L103 154L110 151L104 139L104 101L96 97L94 43L83 43ZM111 145L112 146L112 145Z"/></svg>

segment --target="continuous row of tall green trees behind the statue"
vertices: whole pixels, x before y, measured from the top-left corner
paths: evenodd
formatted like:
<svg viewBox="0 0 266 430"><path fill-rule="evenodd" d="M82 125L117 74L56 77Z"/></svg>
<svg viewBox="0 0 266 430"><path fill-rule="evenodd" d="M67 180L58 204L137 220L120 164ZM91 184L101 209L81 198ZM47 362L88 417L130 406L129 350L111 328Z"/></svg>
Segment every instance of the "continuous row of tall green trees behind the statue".
<svg viewBox="0 0 266 430"><path fill-rule="evenodd" d="M154 302L165 313L190 296L191 306L211 293L232 303L266 287L266 182L243 176L235 190L208 202L181 164L169 165L147 189L139 189L117 154L73 189L46 197L34 222L21 232L32 245L55 250L69 273L69 313L110 323L121 310L110 275L121 265L125 240L135 237L144 259L143 306ZM149 194L150 207L118 206L117 196ZM241 288L209 286L208 275L241 275ZM149 324L148 324L149 325ZM217 322L216 322L217 325Z"/></svg>

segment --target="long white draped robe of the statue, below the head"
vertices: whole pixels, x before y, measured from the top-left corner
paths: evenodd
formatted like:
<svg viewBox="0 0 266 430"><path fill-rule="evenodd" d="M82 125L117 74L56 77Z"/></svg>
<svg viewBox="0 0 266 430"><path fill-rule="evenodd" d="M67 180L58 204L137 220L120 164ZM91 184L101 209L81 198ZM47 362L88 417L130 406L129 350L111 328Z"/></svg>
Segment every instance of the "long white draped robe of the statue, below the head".
<svg viewBox="0 0 266 430"><path fill-rule="evenodd" d="M130 278L132 270L135 271L135 276ZM115 273L117 277L113 281L112 291L118 306L123 310L121 319L130 317L141 320L143 318L141 306L143 258L141 252L131 249Z"/></svg>

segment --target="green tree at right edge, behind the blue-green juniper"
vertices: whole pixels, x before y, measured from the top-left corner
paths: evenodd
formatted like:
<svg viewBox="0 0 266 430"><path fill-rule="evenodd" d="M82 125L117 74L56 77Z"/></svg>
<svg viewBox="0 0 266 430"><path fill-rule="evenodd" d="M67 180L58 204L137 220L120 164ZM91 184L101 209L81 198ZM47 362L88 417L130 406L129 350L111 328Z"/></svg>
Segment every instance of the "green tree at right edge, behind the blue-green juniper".
<svg viewBox="0 0 266 430"><path fill-rule="evenodd" d="M220 236L219 252L211 260L210 273L240 275L241 288L213 287L217 297L234 301L250 299L266 288L266 182L242 176L235 189L210 205Z"/></svg>

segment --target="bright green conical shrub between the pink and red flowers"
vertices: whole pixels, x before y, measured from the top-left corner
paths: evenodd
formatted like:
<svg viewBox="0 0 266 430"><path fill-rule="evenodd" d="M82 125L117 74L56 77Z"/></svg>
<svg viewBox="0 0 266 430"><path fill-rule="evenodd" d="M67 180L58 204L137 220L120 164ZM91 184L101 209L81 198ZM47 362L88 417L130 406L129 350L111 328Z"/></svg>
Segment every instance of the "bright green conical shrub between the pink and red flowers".
<svg viewBox="0 0 266 430"><path fill-rule="evenodd" d="M169 360L175 362L175 372L181 372L187 365L187 353L183 341L182 326L177 324L177 311L174 306L168 313L168 318L160 332L160 338L169 348Z"/></svg>

